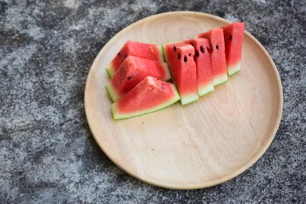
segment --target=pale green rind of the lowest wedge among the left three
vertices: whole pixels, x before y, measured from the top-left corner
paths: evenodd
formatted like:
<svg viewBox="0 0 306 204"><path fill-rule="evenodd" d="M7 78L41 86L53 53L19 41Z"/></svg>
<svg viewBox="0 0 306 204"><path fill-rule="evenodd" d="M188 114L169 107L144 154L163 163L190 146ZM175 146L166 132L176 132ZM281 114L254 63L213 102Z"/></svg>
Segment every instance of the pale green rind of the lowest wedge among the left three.
<svg viewBox="0 0 306 204"><path fill-rule="evenodd" d="M129 114L120 114L118 112L117 107L116 107L117 103L115 102L114 104L111 105L113 118L116 120L116 119L124 119L124 118L141 116L141 115L145 115L145 114L149 114L149 113L159 111L161 109L164 109L164 108L176 103L177 101L179 101L181 99L181 96L180 96L179 92L177 91L174 84L171 84L171 87L172 87L172 91L173 91L173 96L168 101L165 101L165 103L163 103L163 104L161 104L161 105L159 105L155 108L146 109L146 110L143 110L143 111L137 111L137 112L129 113Z"/></svg>

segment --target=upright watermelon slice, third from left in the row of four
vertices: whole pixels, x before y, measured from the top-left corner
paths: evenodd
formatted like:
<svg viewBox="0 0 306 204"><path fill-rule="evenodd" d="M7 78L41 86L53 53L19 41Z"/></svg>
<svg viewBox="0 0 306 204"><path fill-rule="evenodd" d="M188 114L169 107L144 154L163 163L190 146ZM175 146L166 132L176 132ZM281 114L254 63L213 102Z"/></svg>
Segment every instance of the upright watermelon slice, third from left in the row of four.
<svg viewBox="0 0 306 204"><path fill-rule="evenodd" d="M223 29L211 29L197 37L209 39L214 86L227 82Z"/></svg>

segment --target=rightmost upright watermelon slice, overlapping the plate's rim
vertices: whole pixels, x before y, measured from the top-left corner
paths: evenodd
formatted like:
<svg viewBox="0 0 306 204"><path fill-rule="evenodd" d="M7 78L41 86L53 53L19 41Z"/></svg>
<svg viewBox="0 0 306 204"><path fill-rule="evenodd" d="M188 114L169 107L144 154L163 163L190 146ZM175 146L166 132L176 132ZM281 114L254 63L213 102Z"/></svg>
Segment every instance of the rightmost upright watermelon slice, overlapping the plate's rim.
<svg viewBox="0 0 306 204"><path fill-rule="evenodd" d="M233 22L221 27L224 34L227 74L233 75L240 71L242 43L245 22Z"/></svg>

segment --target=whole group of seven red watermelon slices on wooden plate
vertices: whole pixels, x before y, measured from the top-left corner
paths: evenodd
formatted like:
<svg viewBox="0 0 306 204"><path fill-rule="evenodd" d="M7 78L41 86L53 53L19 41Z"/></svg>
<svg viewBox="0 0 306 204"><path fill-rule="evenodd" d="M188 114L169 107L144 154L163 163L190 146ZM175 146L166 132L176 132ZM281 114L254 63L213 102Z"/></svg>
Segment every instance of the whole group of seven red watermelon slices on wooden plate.
<svg viewBox="0 0 306 204"><path fill-rule="evenodd" d="M182 105L214 91L240 71L244 22L162 45L127 41L106 67L114 119ZM172 83L169 83L171 79Z"/></svg>

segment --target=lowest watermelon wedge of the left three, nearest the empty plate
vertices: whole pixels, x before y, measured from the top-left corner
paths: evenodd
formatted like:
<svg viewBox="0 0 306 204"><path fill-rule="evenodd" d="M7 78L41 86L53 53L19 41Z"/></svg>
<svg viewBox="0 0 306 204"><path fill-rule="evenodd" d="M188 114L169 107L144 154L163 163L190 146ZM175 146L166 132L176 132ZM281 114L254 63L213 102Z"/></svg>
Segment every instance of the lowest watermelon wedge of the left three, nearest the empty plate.
<svg viewBox="0 0 306 204"><path fill-rule="evenodd" d="M180 99L173 84L146 77L112 104L111 109L114 119L130 118L161 110Z"/></svg>

